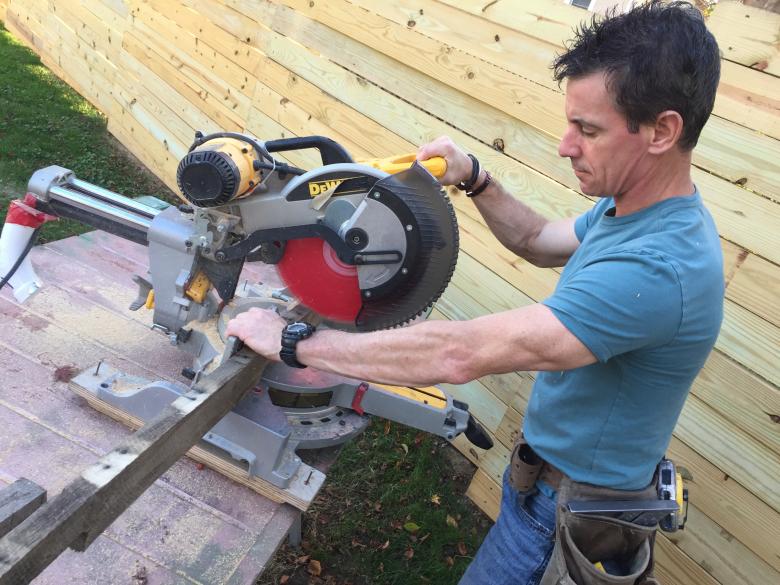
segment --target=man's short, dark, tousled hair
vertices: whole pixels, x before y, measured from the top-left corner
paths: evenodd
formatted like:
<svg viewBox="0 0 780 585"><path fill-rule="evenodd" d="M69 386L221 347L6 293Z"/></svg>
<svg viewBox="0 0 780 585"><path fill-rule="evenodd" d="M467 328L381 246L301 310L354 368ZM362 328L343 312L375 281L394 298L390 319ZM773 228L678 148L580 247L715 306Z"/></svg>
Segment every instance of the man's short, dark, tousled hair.
<svg viewBox="0 0 780 585"><path fill-rule="evenodd" d="M603 71L630 132L674 110L683 119L680 148L696 146L720 78L718 44L697 8L653 1L625 14L594 17L575 30L566 48L553 63L558 83Z"/></svg>

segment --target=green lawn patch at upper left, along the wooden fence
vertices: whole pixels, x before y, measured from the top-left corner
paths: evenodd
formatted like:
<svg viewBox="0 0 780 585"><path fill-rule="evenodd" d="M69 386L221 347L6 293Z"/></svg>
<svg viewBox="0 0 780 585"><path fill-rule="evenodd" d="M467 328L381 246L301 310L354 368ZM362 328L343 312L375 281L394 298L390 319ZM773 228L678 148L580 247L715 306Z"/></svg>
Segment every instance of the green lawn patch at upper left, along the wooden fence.
<svg viewBox="0 0 780 585"><path fill-rule="evenodd" d="M0 23L0 217L24 195L37 169L68 168L90 183L128 196L173 201L169 189L106 131L106 118L41 64ZM50 222L39 241L87 231L72 220Z"/></svg>

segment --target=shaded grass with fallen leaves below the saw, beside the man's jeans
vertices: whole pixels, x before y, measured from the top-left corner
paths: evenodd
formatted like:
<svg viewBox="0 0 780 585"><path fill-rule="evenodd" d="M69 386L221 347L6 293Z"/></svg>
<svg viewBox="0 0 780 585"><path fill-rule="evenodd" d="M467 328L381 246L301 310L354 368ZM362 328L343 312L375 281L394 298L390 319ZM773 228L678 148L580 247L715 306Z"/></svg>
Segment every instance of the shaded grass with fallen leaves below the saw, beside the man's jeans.
<svg viewBox="0 0 780 585"><path fill-rule="evenodd" d="M457 583L489 521L464 495L474 468L449 443L374 419L347 443L260 585Z"/></svg>

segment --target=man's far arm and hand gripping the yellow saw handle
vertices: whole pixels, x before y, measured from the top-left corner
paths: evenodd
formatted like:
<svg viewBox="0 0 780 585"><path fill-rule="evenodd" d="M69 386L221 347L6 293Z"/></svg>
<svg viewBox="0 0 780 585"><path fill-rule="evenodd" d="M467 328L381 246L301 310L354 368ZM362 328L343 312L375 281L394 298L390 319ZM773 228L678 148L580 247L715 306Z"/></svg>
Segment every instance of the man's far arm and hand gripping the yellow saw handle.
<svg viewBox="0 0 780 585"><path fill-rule="evenodd" d="M434 156L447 161L442 184L454 185L471 175L471 159L448 137L437 138L417 152L420 160ZM482 170L476 185L481 185L485 176ZM474 203L498 241L536 266L563 266L579 246L573 218L549 221L495 180L474 198Z"/></svg>

